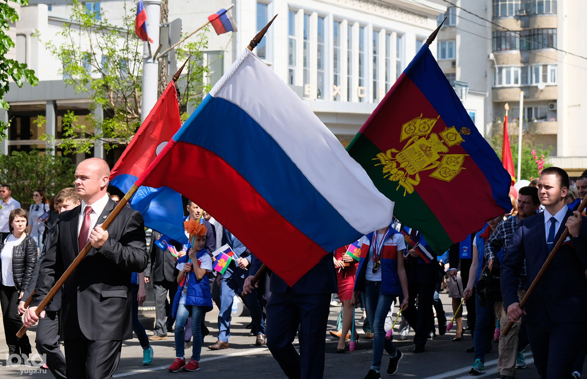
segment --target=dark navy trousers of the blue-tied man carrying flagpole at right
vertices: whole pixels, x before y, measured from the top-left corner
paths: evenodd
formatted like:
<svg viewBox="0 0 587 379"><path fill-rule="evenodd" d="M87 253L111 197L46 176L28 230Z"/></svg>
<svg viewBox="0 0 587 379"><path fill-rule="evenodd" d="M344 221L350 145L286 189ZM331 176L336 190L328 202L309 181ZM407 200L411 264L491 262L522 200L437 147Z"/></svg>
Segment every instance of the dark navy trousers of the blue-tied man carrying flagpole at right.
<svg viewBox="0 0 587 379"><path fill-rule="evenodd" d="M555 324L548 314L541 323L527 323L534 365L542 379L572 378L585 323Z"/></svg>

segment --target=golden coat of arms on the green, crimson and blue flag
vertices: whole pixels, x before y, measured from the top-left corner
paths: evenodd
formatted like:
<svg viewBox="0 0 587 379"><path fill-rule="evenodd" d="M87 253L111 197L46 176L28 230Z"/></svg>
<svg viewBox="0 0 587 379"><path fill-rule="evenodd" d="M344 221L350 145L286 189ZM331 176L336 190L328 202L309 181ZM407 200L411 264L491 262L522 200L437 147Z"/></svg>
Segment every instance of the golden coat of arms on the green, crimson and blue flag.
<svg viewBox="0 0 587 379"><path fill-rule="evenodd" d="M442 132L430 133L440 118L422 118L422 115L402 125L400 142L407 139L402 150L389 149L377 154L373 160L379 160L375 166L383 165L383 177L392 182L399 182L406 193L413 193L414 186L420 183L420 172L434 169L429 175L436 179L450 182L463 170L467 154L448 154L449 147L460 145L464 141L461 135L469 135L470 129L457 129L452 126ZM438 136L440 135L440 136Z"/></svg>

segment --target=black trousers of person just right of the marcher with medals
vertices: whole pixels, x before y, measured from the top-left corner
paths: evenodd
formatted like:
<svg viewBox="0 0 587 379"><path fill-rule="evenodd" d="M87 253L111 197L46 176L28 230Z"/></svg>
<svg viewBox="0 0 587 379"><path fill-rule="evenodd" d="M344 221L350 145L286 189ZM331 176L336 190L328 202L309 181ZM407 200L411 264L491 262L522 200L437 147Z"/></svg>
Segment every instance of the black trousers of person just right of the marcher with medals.
<svg viewBox="0 0 587 379"><path fill-rule="evenodd" d="M416 332L414 344L417 346L425 345L428 333L434 326L434 313L432 304L434 301L434 289L436 283L420 284L415 282L408 283L408 306L402 314L408 324ZM418 298L418 307L416 309L416 297Z"/></svg>

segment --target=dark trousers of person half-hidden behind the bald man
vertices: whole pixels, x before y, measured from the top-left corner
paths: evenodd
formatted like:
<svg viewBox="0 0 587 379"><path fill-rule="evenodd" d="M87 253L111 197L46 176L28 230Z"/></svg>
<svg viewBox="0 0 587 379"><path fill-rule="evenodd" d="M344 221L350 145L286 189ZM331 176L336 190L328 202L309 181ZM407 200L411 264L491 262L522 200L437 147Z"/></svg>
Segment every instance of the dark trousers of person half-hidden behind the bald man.
<svg viewBox="0 0 587 379"><path fill-rule="evenodd" d="M46 311L39 318L35 344L39 354L45 354L49 370L56 378L66 378L65 356L59 346L59 311Z"/></svg>

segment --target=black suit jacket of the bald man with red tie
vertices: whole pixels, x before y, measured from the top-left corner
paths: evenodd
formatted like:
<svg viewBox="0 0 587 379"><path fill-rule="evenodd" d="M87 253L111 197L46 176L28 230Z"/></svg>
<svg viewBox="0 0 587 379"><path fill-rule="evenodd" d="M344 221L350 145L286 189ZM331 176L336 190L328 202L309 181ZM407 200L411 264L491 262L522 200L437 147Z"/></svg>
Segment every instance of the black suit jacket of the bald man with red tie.
<svg viewBox="0 0 587 379"><path fill-rule="evenodd" d="M116 206L108 200L97 223ZM32 306L38 306L53 284L73 262L81 206L59 215L53 240L41 262ZM72 276L65 281L61 306L63 339L128 340L131 327L131 273L147 267L143 216L124 207L107 229L104 245L92 248ZM79 323L79 328L76 324Z"/></svg>

